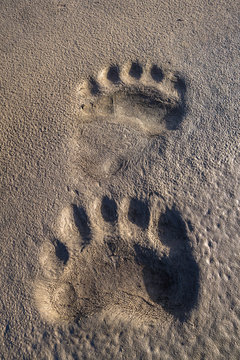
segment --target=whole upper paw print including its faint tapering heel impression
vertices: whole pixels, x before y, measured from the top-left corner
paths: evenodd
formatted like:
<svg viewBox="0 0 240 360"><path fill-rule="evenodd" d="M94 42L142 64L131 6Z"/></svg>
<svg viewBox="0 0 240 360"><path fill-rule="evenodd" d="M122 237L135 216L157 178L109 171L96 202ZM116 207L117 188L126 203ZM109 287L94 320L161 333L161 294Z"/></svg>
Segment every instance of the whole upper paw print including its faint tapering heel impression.
<svg viewBox="0 0 240 360"><path fill-rule="evenodd" d="M123 173L153 138L179 129L185 92L177 73L137 61L110 65L79 84L69 144L73 177L79 170L97 181Z"/></svg>

